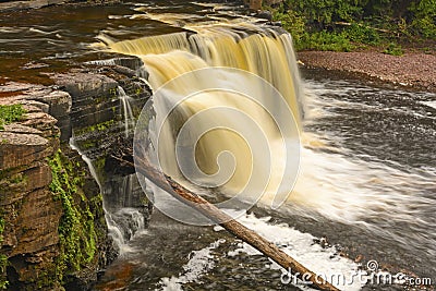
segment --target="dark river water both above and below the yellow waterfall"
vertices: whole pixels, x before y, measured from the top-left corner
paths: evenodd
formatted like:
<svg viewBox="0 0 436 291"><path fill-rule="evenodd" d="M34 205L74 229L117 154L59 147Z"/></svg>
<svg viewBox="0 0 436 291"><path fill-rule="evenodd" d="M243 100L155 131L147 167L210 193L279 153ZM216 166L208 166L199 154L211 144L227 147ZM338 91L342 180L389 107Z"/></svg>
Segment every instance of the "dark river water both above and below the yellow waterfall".
<svg viewBox="0 0 436 291"><path fill-rule="evenodd" d="M186 25L239 19L238 11L154 1L8 13L0 20L0 81L49 83L39 72L110 57L98 39L183 33ZM435 282L436 95L307 69L302 89L294 191L278 210L257 206L239 220L327 278L351 280L374 260L392 276ZM338 286L402 289L365 286L364 278ZM298 290L283 279L276 264L220 228L183 225L156 210L95 289Z"/></svg>

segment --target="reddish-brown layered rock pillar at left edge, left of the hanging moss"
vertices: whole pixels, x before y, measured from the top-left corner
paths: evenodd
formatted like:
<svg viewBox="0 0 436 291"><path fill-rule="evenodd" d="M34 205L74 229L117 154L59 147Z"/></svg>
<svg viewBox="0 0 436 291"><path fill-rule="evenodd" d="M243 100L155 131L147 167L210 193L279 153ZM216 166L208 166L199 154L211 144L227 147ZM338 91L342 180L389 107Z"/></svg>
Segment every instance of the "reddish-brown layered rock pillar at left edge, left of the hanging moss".
<svg viewBox="0 0 436 291"><path fill-rule="evenodd" d="M55 266L58 255L60 202L49 190L51 169L46 159L59 148L57 120L46 113L49 106L28 99L23 90L41 89L9 84L4 92L20 94L1 98L1 105L23 104L23 120L0 131L0 216L4 220L1 253L9 266L3 280L11 289L26 289ZM7 278L4 276L7 275ZM52 286L55 287L55 286Z"/></svg>

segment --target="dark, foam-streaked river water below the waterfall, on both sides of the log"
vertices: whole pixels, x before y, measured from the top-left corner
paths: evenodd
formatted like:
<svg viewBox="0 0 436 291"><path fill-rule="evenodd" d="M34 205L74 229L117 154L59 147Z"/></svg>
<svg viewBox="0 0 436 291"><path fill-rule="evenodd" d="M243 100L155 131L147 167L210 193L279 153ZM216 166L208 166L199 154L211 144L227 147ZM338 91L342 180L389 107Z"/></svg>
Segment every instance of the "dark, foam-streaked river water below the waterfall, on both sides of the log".
<svg viewBox="0 0 436 291"><path fill-rule="evenodd" d="M303 150L304 195L291 194L294 204L279 211L253 208L240 221L326 276L351 280L362 255L391 275L432 278L436 96L318 70L303 70L303 82L304 129L318 141ZM98 290L293 290L277 266L225 231L160 213L130 247ZM356 281L343 290L402 290Z"/></svg>

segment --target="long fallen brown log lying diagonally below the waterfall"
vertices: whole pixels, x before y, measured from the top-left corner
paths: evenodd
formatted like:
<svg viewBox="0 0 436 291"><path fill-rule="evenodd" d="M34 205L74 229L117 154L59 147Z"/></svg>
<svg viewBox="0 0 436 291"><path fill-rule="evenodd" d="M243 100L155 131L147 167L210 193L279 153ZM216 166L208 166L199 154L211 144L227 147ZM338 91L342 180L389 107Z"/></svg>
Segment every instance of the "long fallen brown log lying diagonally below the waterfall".
<svg viewBox="0 0 436 291"><path fill-rule="evenodd" d="M113 157L112 158L119 160L124 166L134 167L132 161ZM293 259L291 256L286 254L283 251L277 247L276 244L267 241L256 232L247 229L240 222L233 220L229 215L221 211L215 205L208 203L203 197L197 194L191 192L185 189L178 182L175 182L171 177L168 177L153 167L148 159L145 157L135 157L135 166L136 170L145 175L148 180L155 183L160 189L167 191L169 194L174 196L177 199L183 202L184 204L191 206L196 209L210 220L217 222L227 231L232 233L234 237L241 239L247 244L252 245L261 253L271 258L274 262L279 264L287 270L292 270L292 275L296 276L296 278L303 280L305 283L311 284L311 287L320 289L320 290L335 290L339 291L338 288L324 280L320 276L317 276L313 271L308 270L302 264ZM226 221L226 222L222 222Z"/></svg>

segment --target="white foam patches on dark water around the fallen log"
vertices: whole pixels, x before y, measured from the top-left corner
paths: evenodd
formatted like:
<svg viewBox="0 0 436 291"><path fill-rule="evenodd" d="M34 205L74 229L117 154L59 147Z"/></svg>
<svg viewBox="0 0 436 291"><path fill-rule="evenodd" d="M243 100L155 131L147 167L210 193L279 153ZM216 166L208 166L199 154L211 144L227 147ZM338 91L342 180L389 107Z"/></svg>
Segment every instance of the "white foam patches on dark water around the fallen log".
<svg viewBox="0 0 436 291"><path fill-rule="evenodd" d="M232 213L233 210L227 209L226 211ZM254 215L243 215L238 219L239 222L275 243L284 253L322 276L322 278L331 281L341 290L356 291L361 290L364 286L362 280L353 280L353 276L355 277L356 275L361 275L363 276L362 278L365 278L366 272L359 269L359 264L349 258L339 256L338 250L332 246L322 247L319 244L314 243L317 238L308 233L300 232L284 223L274 225L269 220L269 217L256 218ZM214 230L220 231L223 230L223 228L217 226ZM179 291L183 290L184 283L198 281L203 275L216 267L213 260L211 250L218 247L225 240L218 240L205 248L193 251L191 259L183 266L184 274L179 277L161 278L160 290ZM262 255L261 252L251 245L241 242L238 244L238 248L229 251L227 256L238 256L241 253L251 256ZM270 264L266 265L266 267L277 270L280 274L288 271L272 260L270 260ZM347 283L347 286L343 286L344 283ZM312 290L305 286L298 287L304 290Z"/></svg>

